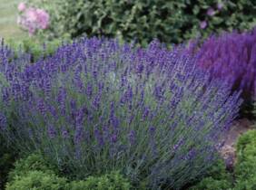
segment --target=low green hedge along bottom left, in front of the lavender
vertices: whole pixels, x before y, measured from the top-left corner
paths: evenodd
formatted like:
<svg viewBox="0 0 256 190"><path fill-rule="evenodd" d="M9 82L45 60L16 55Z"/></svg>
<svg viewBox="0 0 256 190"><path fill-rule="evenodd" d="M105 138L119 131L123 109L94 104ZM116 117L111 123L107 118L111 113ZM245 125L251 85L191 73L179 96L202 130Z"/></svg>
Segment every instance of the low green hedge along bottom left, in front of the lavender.
<svg viewBox="0 0 256 190"><path fill-rule="evenodd" d="M49 166L41 155L33 154L15 163L6 190L129 190L132 187L118 172L89 176L84 181L69 181L57 173L57 168Z"/></svg>

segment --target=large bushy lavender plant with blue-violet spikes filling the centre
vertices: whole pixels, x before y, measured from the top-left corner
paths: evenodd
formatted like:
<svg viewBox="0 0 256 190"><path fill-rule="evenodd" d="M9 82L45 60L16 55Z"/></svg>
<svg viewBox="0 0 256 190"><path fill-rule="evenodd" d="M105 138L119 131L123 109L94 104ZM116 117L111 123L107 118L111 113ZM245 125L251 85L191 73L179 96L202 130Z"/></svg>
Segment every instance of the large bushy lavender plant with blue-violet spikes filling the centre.
<svg viewBox="0 0 256 190"><path fill-rule="evenodd" d="M157 41L85 38L34 64L7 62L1 48L1 133L76 178L114 170L180 189L212 166L241 104L196 58Z"/></svg>

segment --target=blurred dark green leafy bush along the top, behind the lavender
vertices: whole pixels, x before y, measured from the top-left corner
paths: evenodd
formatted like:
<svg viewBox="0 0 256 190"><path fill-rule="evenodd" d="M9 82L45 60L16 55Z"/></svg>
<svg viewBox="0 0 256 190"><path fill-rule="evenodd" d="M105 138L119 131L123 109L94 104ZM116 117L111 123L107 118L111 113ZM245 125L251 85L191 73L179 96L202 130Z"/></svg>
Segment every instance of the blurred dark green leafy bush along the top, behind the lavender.
<svg viewBox="0 0 256 190"><path fill-rule="evenodd" d="M222 30L251 29L256 24L254 0L29 0L51 15L48 38L82 34L119 37L148 43L181 43ZM208 14L207 14L208 13ZM205 23L202 23L205 22ZM202 29L203 24L205 28Z"/></svg>

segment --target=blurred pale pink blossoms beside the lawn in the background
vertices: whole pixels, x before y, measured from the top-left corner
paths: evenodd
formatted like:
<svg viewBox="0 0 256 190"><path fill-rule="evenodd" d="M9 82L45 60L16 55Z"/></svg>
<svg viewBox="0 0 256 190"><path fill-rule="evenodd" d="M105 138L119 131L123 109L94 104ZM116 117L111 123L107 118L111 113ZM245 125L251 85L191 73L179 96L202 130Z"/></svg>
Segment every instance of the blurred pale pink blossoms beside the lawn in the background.
<svg viewBox="0 0 256 190"><path fill-rule="evenodd" d="M50 15L40 8L20 3L18 5L19 16L17 24L33 35L38 30L45 30L50 24Z"/></svg>

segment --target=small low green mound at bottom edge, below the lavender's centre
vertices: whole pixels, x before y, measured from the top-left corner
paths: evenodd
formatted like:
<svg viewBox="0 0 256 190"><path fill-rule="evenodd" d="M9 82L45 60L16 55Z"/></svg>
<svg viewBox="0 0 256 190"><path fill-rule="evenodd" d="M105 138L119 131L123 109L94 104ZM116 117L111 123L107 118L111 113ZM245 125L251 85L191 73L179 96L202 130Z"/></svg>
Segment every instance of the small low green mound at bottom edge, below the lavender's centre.
<svg viewBox="0 0 256 190"><path fill-rule="evenodd" d="M89 176L85 181L74 181L70 190L129 190L131 185L127 179L118 172L112 172L104 176Z"/></svg>

